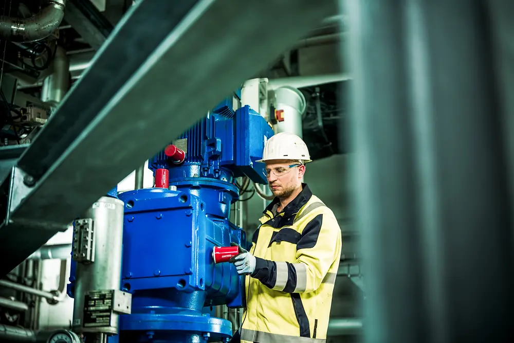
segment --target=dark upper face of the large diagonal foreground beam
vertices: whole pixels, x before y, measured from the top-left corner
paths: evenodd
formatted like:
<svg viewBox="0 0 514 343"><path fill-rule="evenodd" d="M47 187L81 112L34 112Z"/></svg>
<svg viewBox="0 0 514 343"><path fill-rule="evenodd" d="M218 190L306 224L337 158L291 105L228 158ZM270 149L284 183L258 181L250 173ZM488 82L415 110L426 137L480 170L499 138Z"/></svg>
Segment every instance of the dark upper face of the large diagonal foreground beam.
<svg viewBox="0 0 514 343"><path fill-rule="evenodd" d="M95 67L75 83L18 165L35 179L47 172L196 2L152 0L131 7L91 61Z"/></svg>

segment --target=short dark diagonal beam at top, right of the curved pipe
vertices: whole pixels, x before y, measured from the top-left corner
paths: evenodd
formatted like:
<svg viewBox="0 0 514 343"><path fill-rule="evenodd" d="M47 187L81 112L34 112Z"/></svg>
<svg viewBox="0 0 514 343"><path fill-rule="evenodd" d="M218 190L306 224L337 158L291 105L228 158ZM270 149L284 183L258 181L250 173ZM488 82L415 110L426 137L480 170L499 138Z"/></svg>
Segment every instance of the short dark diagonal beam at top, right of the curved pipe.
<svg viewBox="0 0 514 343"><path fill-rule="evenodd" d="M64 19L95 49L105 43L113 30L113 25L89 0L68 1Z"/></svg>

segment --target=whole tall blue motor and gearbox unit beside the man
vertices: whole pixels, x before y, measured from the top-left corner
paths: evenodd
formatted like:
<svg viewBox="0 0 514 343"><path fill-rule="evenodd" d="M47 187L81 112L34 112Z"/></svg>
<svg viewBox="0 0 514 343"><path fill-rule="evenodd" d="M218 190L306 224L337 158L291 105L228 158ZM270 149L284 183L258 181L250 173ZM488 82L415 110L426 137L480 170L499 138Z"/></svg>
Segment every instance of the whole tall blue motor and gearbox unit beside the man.
<svg viewBox="0 0 514 343"><path fill-rule="evenodd" d="M172 142L186 153L180 164L164 151L149 161L154 175L169 171L169 189L119 194L125 203L122 290L132 293L132 314L120 316L120 342L230 339L231 323L203 310L244 306L244 278L230 263L214 264L212 250L246 245L245 233L229 222L239 196L234 177L266 183L255 160L272 135L250 107L234 112L222 104Z"/></svg>

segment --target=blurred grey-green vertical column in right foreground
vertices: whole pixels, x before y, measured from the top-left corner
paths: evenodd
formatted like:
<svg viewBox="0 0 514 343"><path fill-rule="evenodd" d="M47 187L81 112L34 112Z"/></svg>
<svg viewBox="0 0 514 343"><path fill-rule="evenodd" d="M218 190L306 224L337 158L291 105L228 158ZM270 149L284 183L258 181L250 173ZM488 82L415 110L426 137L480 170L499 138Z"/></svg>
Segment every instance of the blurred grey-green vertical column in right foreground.
<svg viewBox="0 0 514 343"><path fill-rule="evenodd" d="M512 126L501 127L488 2L344 3L365 339L510 341Z"/></svg>

